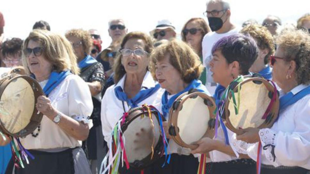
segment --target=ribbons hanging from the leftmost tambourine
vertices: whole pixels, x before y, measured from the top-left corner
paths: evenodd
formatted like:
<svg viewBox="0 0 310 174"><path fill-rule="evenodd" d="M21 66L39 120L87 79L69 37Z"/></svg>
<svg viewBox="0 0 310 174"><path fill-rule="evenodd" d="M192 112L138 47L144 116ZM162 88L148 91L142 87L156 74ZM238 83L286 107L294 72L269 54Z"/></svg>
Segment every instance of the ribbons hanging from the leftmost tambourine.
<svg viewBox="0 0 310 174"><path fill-rule="evenodd" d="M2 136L2 139L4 141L7 140L7 138L4 136L4 134L0 131L0 134ZM24 148L24 146L20 143L20 140L18 137L12 137L10 136L11 138L11 142L10 142L10 146L11 146L11 151L12 151L12 158L13 158L13 161L14 161L14 165L16 167L22 167L24 168L24 163L23 161L26 161L27 164L29 164L29 160L28 160L28 156L31 158L31 159L34 159L34 156L32 154L29 153L28 150L26 150ZM16 143L15 141L17 142L17 145L16 146ZM20 149L20 152L19 150L17 149L17 147Z"/></svg>

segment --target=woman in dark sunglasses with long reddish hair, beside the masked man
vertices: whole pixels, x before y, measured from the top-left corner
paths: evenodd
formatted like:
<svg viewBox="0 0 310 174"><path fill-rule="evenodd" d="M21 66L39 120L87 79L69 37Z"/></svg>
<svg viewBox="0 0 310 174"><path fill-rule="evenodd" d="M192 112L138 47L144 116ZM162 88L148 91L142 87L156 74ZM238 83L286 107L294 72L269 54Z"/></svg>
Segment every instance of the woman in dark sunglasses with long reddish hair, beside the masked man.
<svg viewBox="0 0 310 174"><path fill-rule="evenodd" d="M195 50L201 62L203 62L201 42L203 37L210 31L210 27L202 18L192 18L182 28L182 41L188 43ZM201 73L199 80L201 80L202 84L206 84L206 68Z"/></svg>

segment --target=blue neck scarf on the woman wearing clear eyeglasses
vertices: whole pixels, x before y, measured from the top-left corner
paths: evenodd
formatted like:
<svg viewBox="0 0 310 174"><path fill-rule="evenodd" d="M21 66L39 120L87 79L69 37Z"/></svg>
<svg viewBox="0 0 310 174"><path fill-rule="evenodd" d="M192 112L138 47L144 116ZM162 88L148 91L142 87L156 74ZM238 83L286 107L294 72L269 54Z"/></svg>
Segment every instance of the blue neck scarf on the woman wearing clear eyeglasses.
<svg viewBox="0 0 310 174"><path fill-rule="evenodd" d="M135 95L135 97L129 99L127 97L127 95L124 93L122 87L117 86L114 91L115 91L115 95L117 97L117 99L119 99L120 101L124 101L127 102L128 105L131 108L134 107L138 107L138 103L142 102L143 100L145 100L146 98L148 98L149 96L151 96L152 94L154 94L155 92L157 92L157 90L160 88L160 85L157 83L155 85L155 87L150 88L150 89L141 89L139 91L138 94Z"/></svg>

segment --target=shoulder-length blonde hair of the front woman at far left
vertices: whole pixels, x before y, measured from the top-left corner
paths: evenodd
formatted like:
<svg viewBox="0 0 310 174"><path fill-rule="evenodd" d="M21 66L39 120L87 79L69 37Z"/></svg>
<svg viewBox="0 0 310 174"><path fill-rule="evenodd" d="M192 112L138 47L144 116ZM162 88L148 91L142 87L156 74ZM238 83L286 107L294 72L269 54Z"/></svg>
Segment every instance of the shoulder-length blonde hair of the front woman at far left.
<svg viewBox="0 0 310 174"><path fill-rule="evenodd" d="M53 65L53 70L61 72L71 70L73 74L79 74L80 70L70 42L60 34L48 30L34 29L23 43L23 49L27 48L30 40L41 44L43 56ZM23 66L30 73L26 56L23 51Z"/></svg>

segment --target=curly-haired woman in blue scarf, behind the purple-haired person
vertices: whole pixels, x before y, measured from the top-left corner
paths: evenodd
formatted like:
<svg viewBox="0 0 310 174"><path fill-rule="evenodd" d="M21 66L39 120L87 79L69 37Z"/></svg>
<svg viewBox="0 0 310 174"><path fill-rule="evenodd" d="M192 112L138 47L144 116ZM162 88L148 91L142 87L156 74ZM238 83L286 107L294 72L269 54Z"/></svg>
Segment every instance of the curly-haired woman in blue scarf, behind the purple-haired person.
<svg viewBox="0 0 310 174"><path fill-rule="evenodd" d="M273 37L266 27L257 24L250 24L242 28L242 34L249 34L256 41L258 47L258 56L253 65L250 67L250 72L258 72L265 79L271 80L272 69L268 65L270 55L274 54L275 46Z"/></svg>

